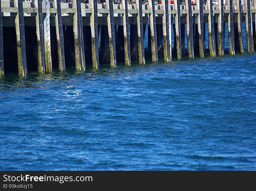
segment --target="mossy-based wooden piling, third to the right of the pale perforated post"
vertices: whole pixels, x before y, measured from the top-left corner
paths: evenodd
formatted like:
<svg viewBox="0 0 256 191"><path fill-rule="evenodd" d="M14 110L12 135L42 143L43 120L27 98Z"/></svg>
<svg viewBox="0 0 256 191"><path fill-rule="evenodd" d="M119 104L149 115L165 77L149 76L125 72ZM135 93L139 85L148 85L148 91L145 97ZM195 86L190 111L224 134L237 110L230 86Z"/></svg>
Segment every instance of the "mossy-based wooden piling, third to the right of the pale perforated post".
<svg viewBox="0 0 256 191"><path fill-rule="evenodd" d="M97 0L89 0L92 14L90 16L90 28L92 38L93 68L99 68L99 34L98 34L98 10Z"/></svg>

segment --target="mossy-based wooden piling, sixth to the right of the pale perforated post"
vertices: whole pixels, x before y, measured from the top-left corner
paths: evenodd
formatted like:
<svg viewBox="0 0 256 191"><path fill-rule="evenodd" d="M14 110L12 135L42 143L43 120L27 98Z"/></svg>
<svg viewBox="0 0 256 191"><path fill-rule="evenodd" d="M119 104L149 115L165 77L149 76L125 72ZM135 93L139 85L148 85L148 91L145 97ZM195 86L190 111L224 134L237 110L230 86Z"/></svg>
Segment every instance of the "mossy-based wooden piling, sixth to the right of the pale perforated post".
<svg viewBox="0 0 256 191"><path fill-rule="evenodd" d="M142 19L142 0L136 0L138 30L138 60L139 64L145 64L144 39L143 39L143 19Z"/></svg>

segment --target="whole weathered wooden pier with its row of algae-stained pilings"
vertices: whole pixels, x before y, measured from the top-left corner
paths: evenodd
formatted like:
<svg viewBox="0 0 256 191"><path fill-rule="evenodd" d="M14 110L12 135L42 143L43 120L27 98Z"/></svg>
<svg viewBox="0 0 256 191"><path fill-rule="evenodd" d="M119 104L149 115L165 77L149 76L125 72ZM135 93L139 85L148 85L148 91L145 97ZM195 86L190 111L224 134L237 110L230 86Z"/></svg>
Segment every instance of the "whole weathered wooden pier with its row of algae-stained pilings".
<svg viewBox="0 0 256 191"><path fill-rule="evenodd" d="M87 3L80 0L70 3L61 3L60 0L0 0L0 77L4 77L5 68L8 71L16 68L14 71L20 76L26 76L28 65L35 68L31 63L37 64L41 74L52 72L56 66L60 72L65 72L71 63L77 70L86 70L87 61L93 68L99 68L101 63L115 67L119 54L123 55L127 66L131 61L145 64L147 25L152 62L169 62L172 56L182 60L185 26L188 57L204 57L205 48L208 48L205 47L205 23L208 23L211 57L224 54L225 23L228 25L229 54L245 50L254 52L256 0L244 0L244 5L241 0L226 1L225 5L225 0L212 5L212 0L207 0L204 6L202 0L198 0L197 5L186 0L184 6L180 5L180 0L175 0L174 5L168 0L157 5L154 0L144 4L142 0L132 4L127 0L121 0L120 4L114 4L112 0L104 3L97 0L88 0ZM245 28L242 23L245 23ZM172 26L174 34L171 34ZM247 47L243 46L244 33ZM6 59L8 62L5 63Z"/></svg>

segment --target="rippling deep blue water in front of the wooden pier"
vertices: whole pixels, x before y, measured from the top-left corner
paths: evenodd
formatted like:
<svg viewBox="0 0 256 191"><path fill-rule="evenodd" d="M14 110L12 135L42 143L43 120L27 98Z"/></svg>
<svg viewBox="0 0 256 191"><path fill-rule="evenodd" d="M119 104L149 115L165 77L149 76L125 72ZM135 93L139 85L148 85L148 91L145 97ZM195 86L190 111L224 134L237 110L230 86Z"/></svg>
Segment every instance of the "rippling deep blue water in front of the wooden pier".
<svg viewBox="0 0 256 191"><path fill-rule="evenodd" d="M256 170L256 54L0 79L0 170Z"/></svg>

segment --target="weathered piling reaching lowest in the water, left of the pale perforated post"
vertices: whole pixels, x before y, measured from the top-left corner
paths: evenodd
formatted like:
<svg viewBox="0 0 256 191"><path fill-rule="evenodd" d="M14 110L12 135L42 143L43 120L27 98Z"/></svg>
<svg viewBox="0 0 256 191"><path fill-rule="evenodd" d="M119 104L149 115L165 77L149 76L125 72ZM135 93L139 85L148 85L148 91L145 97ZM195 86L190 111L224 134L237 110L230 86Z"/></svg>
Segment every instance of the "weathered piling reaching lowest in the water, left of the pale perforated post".
<svg viewBox="0 0 256 191"><path fill-rule="evenodd" d="M15 15L18 73L20 76L26 76L28 75L28 71L26 62L24 13L22 0L14 0L14 7L18 8L18 13Z"/></svg>

